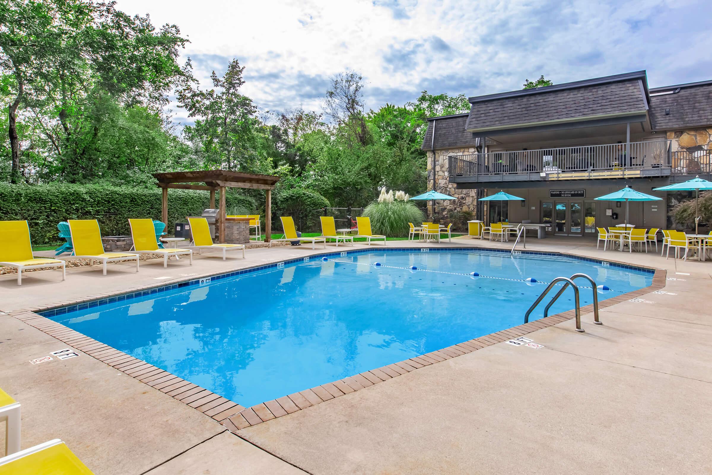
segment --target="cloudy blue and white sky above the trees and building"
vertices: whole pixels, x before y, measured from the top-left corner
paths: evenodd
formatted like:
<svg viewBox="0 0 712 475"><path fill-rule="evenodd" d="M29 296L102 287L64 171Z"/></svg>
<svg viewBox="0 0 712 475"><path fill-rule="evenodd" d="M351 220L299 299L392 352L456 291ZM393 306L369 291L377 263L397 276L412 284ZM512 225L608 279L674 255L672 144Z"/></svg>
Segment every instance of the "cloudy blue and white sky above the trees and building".
<svg viewBox="0 0 712 475"><path fill-rule="evenodd" d="M712 79L712 1L118 0L177 24L195 74L246 66L261 110L321 110L330 75L367 83L367 108L419 92L498 93L646 69L650 87ZM184 111L176 110L177 120Z"/></svg>

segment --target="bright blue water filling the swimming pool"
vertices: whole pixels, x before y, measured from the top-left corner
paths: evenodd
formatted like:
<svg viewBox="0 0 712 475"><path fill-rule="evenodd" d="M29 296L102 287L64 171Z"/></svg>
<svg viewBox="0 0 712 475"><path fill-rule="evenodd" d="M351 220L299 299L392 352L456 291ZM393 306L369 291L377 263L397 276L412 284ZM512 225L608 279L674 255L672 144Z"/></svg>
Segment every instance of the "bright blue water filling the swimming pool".
<svg viewBox="0 0 712 475"><path fill-rule="evenodd" d="M577 272L612 289L601 300L653 276L563 256L373 251L51 318L248 407L520 325L545 283ZM581 297L591 303L590 288ZM567 291L550 315L573 307Z"/></svg>

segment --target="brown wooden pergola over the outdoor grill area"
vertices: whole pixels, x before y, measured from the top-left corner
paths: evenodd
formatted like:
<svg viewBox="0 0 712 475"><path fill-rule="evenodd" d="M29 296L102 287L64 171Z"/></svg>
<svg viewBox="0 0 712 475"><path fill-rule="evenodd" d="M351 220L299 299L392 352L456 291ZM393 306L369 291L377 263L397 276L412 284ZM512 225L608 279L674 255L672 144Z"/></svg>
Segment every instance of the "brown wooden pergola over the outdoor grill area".
<svg viewBox="0 0 712 475"><path fill-rule="evenodd" d="M216 225L220 242L225 242L225 189L250 188L266 191L265 199L265 241L269 242L272 236L272 190L279 181L279 177L267 174L241 173L230 170L197 170L195 172L167 172L154 173L158 180L158 187L163 190L162 218L168 225L168 189L202 189L210 192L210 208L215 209L215 192L220 192L220 214ZM197 184L203 183L203 184Z"/></svg>

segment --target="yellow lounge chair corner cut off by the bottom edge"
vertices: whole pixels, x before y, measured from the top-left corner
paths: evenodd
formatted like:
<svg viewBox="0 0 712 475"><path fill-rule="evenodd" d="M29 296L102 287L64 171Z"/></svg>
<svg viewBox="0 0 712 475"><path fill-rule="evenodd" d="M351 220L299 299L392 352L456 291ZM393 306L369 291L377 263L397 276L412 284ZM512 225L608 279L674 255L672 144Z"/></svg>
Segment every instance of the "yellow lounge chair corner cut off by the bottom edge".
<svg viewBox="0 0 712 475"><path fill-rule="evenodd" d="M0 475L93 475L60 439L0 459Z"/></svg>

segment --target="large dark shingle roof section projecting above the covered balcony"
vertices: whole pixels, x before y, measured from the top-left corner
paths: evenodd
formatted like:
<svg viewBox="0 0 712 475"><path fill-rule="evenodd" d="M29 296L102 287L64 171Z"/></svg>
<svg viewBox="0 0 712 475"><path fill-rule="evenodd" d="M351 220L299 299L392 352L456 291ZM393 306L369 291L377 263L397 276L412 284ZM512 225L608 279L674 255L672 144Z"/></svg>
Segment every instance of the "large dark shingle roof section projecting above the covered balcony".
<svg viewBox="0 0 712 475"><path fill-rule="evenodd" d="M540 90L540 93L497 98L471 98L468 130L496 130L543 122L596 118L644 112L646 99L641 80L631 78L607 83Z"/></svg>

